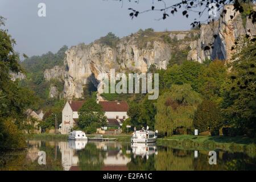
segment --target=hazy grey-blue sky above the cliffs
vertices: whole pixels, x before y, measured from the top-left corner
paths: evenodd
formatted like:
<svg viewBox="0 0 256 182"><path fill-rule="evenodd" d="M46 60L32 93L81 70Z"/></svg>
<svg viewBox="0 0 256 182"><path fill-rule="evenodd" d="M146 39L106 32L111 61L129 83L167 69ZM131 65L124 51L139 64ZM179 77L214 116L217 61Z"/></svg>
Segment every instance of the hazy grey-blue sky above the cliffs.
<svg viewBox="0 0 256 182"><path fill-rule="evenodd" d="M88 44L108 32L123 37L139 28L155 31L191 28L193 18L183 17L181 11L166 20L155 20L160 18L159 13L142 14L131 20L129 7L145 10L152 1L135 5L124 0L122 7L122 3L114 0L0 0L0 15L7 18L6 28L16 40L15 50L28 56L56 52L63 45ZM46 17L38 16L40 2L46 3ZM155 7L160 8L156 0Z"/></svg>

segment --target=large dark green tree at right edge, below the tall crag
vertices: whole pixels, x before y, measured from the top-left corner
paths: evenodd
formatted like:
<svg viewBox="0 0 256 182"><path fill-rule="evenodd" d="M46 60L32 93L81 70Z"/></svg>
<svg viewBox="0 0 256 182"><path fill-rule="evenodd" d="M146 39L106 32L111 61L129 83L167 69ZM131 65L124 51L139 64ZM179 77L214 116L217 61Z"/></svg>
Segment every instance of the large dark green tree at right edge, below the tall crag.
<svg viewBox="0 0 256 182"><path fill-rule="evenodd" d="M256 133L256 44L243 39L236 49L223 89L222 109L228 125L253 137Z"/></svg>

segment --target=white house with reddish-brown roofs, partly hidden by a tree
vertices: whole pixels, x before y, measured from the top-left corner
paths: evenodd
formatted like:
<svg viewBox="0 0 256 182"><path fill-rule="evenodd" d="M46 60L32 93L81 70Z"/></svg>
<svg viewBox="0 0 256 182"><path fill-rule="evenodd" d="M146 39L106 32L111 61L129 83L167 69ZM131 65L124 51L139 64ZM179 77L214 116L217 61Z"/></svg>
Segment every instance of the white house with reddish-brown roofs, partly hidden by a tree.
<svg viewBox="0 0 256 182"><path fill-rule="evenodd" d="M79 119L79 109L85 101L68 101L62 111L62 123L59 126L61 134L69 134ZM98 101L105 113L108 128L120 129L123 121L128 118L127 111L129 106L125 101Z"/></svg>

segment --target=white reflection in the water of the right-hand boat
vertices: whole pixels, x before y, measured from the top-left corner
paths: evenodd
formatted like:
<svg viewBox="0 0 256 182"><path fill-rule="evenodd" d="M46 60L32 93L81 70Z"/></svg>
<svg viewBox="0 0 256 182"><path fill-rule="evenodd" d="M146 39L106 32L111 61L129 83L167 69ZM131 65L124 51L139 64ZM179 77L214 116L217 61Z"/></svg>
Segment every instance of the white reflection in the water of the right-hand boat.
<svg viewBox="0 0 256 182"><path fill-rule="evenodd" d="M155 146L155 144L132 143L131 150L134 154L134 157L139 155L139 156L142 156L142 158L146 156L148 159L149 155L152 155L152 154L158 155L157 147Z"/></svg>

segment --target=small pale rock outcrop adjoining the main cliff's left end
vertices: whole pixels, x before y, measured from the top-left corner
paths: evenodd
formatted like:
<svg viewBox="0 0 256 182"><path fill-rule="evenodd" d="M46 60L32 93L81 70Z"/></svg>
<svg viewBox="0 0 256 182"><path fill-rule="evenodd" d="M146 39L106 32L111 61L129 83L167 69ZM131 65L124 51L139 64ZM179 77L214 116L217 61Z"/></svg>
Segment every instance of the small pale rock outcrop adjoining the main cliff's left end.
<svg viewBox="0 0 256 182"><path fill-rule="evenodd" d="M46 69L46 71L44 71L44 78L46 79L46 81L50 81L51 79L63 81L64 68L60 66L55 66L52 69Z"/></svg>

